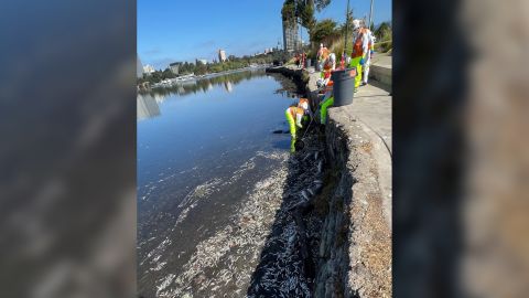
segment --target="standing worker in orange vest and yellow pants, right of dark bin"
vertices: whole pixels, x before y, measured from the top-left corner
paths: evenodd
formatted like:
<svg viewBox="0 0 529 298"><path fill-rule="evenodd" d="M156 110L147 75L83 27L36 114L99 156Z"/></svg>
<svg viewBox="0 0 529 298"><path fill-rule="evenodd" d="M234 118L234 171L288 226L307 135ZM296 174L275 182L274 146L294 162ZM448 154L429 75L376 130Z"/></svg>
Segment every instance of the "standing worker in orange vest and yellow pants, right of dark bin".
<svg viewBox="0 0 529 298"><path fill-rule="evenodd" d="M368 31L363 26L360 20L353 20L353 53L349 67L356 68L355 92L360 86L363 66L366 64L370 55L370 46L373 46L373 39L369 38Z"/></svg>

